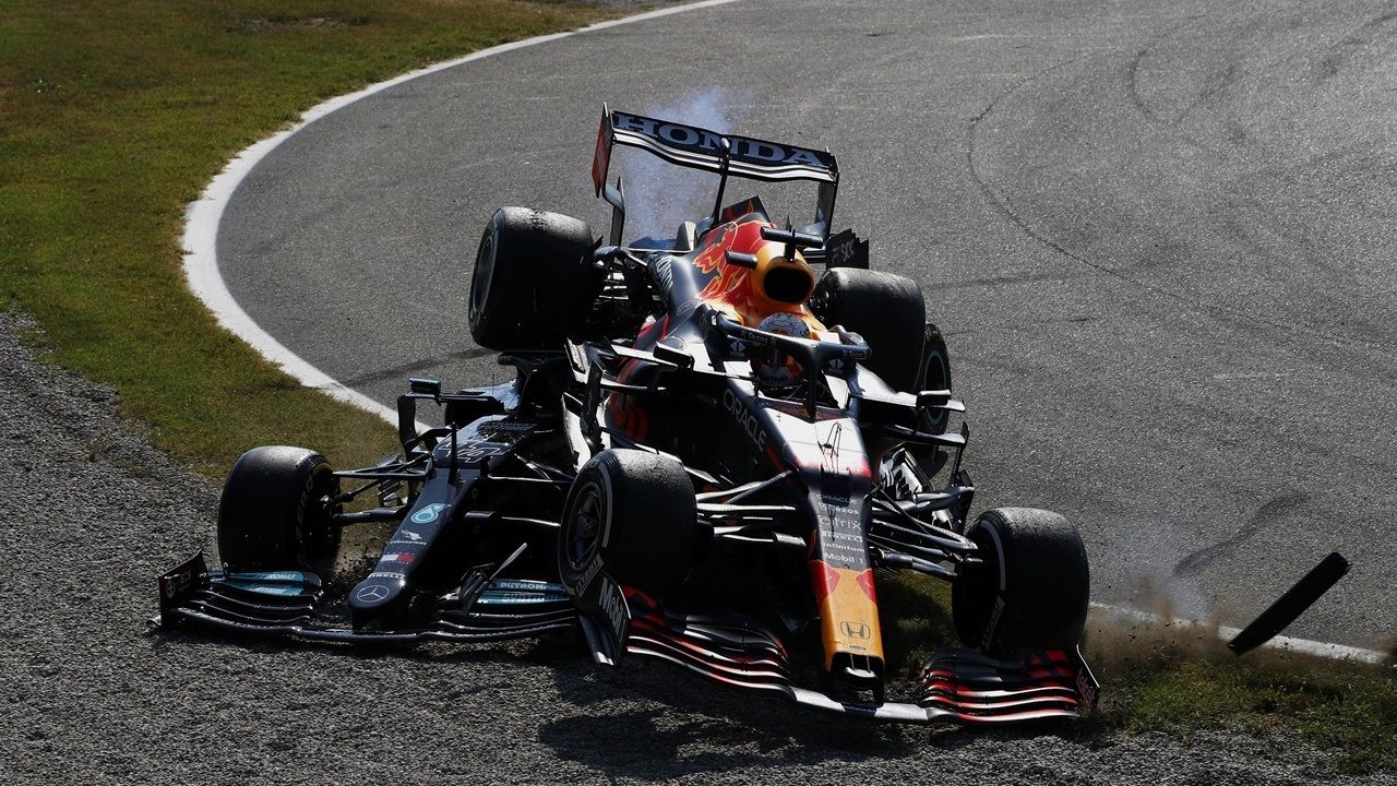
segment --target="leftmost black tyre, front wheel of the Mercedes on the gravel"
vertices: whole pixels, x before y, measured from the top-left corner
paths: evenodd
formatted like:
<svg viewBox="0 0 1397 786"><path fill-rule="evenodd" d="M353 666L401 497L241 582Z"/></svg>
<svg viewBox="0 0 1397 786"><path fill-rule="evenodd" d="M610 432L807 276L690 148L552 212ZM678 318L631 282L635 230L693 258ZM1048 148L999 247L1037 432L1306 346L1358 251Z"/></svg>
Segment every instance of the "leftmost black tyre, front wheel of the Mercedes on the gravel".
<svg viewBox="0 0 1397 786"><path fill-rule="evenodd" d="M313 571L328 579L339 551L339 494L326 457L303 448L243 453L218 502L218 554L228 571Z"/></svg>

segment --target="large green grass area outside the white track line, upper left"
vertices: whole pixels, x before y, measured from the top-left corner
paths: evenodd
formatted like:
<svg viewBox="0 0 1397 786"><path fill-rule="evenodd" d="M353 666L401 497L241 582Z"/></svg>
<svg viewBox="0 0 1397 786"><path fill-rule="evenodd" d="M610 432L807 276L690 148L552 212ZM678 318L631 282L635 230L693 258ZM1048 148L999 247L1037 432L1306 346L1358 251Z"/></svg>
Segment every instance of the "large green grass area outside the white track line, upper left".
<svg viewBox="0 0 1397 786"><path fill-rule="evenodd" d="M0 8L0 308L32 315L57 364L115 387L124 415L212 480L253 445L348 466L393 434L215 326L184 288L184 204L326 98L606 15L511 0Z"/></svg>

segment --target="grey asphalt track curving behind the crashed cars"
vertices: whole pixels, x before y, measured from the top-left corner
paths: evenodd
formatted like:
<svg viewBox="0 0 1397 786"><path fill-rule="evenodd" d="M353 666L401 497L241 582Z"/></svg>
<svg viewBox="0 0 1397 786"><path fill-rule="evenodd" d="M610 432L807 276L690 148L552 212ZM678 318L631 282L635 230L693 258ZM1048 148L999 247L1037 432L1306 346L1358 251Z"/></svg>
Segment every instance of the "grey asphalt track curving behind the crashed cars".
<svg viewBox="0 0 1397 786"><path fill-rule="evenodd" d="M504 378L464 322L479 231L502 204L605 228L602 101L827 145L835 224L947 336L979 502L1076 520L1098 601L1234 624L1338 550L1354 572L1289 634L1373 646L1397 631L1394 31L1386 3L697 10L317 120L233 194L219 264L391 403L409 373Z"/></svg>

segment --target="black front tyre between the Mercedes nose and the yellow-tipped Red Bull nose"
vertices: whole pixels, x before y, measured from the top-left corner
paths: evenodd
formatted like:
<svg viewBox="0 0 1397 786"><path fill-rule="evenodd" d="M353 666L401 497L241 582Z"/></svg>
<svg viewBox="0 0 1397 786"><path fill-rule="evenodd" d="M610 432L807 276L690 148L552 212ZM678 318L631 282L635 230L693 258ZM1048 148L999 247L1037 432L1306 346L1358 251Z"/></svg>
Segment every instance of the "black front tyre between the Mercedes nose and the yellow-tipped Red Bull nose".
<svg viewBox="0 0 1397 786"><path fill-rule="evenodd" d="M601 559L617 583L665 597L678 592L698 547L693 483L679 462L643 450L602 450L573 481L557 565L578 582Z"/></svg>

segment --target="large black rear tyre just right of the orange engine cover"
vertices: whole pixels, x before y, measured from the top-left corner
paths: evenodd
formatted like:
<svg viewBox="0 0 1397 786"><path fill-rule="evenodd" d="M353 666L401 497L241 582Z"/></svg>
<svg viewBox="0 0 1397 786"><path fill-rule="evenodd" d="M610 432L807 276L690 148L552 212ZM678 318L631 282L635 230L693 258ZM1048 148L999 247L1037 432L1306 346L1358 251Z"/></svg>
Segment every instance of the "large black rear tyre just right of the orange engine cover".
<svg viewBox="0 0 1397 786"><path fill-rule="evenodd" d="M826 324L863 336L873 357L862 361L893 389L916 386L926 330L926 303L916 281L879 270L834 267L820 277L813 298Z"/></svg>

